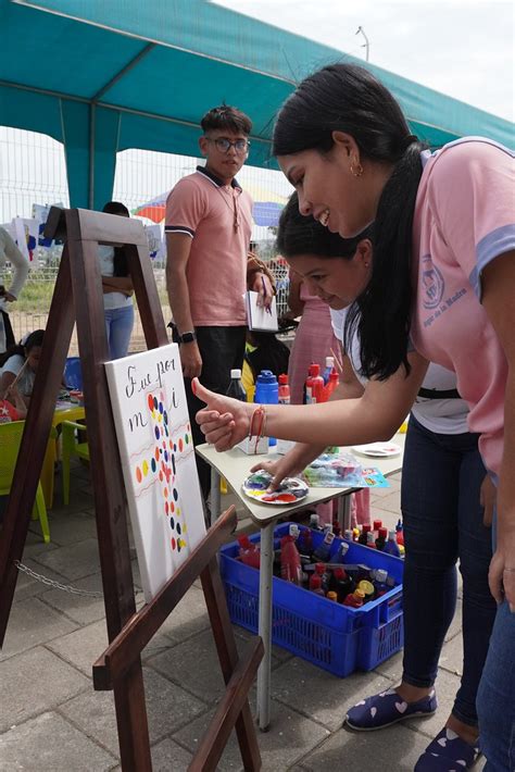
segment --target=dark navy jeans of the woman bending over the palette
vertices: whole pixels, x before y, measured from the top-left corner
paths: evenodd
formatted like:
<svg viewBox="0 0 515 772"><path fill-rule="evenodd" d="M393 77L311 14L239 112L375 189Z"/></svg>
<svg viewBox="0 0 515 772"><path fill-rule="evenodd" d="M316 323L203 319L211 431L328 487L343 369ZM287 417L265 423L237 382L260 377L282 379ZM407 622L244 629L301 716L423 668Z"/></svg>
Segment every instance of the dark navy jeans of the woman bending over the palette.
<svg viewBox="0 0 515 772"><path fill-rule="evenodd" d="M477 724L476 695L495 618L488 587L490 530L479 488L486 471L478 435L436 434L410 418L401 509L406 547L403 680L431 686L456 606L456 560L463 576L464 662L453 714Z"/></svg>

